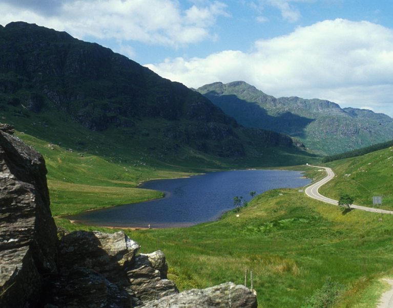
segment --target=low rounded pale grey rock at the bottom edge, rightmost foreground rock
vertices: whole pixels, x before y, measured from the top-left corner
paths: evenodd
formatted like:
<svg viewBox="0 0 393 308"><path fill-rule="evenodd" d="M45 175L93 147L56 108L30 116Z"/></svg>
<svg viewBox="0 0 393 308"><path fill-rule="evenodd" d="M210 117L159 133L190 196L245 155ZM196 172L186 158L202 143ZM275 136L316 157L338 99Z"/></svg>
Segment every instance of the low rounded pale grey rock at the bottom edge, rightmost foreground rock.
<svg viewBox="0 0 393 308"><path fill-rule="evenodd" d="M193 289L144 303L141 308L257 308L255 295L243 285L226 282L215 287Z"/></svg>

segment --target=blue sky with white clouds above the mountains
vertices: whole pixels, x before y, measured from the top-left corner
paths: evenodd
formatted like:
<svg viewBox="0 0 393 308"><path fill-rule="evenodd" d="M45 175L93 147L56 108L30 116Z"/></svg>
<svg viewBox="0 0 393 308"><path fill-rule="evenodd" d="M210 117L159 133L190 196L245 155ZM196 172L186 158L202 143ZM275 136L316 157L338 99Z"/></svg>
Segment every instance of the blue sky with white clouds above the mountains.
<svg viewBox="0 0 393 308"><path fill-rule="evenodd" d="M243 80L393 117L393 0L0 0L197 88Z"/></svg>

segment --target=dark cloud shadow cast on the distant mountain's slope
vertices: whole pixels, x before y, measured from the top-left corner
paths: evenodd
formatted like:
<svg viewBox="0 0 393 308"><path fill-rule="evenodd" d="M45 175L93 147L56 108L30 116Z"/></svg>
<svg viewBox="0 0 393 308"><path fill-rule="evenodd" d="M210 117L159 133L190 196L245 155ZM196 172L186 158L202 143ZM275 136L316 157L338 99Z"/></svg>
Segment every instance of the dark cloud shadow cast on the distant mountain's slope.
<svg viewBox="0 0 393 308"><path fill-rule="evenodd" d="M224 113L235 118L238 123L245 127L263 128L278 131L294 137L305 137L304 128L313 119L284 112L277 116L267 114L266 109L256 102L239 99L236 95L217 96L216 92L204 94Z"/></svg>

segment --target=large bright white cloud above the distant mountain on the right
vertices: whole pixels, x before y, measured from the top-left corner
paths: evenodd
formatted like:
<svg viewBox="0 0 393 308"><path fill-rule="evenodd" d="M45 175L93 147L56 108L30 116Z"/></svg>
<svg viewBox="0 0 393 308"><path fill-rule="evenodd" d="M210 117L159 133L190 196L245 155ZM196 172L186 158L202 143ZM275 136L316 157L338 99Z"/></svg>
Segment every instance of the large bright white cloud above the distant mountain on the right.
<svg viewBox="0 0 393 308"><path fill-rule="evenodd" d="M147 67L192 87L244 80L277 97L329 99L393 115L387 109L393 103L393 31L367 21L324 20L258 40L248 53L223 51Z"/></svg>

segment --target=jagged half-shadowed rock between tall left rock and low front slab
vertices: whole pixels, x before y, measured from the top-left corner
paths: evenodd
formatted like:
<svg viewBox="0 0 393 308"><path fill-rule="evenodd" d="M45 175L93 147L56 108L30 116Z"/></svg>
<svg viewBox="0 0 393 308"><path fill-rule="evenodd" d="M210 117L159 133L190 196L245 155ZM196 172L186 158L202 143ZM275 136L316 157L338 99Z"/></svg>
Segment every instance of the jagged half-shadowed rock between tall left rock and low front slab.
<svg viewBox="0 0 393 308"><path fill-rule="evenodd" d="M59 307L129 307L177 294L167 279L164 254L136 256L139 244L123 231L113 234L75 231L59 245L59 275L47 303Z"/></svg>

